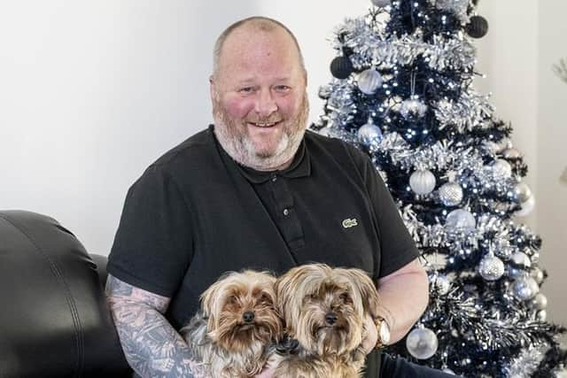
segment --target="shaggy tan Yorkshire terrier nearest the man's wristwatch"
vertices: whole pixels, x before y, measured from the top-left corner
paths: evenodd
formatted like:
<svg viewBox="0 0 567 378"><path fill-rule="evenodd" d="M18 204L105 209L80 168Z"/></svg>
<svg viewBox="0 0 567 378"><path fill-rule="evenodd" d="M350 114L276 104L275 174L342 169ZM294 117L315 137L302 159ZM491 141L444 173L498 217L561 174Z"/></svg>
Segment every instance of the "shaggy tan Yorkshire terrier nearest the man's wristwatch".
<svg viewBox="0 0 567 378"><path fill-rule="evenodd" d="M276 378L360 377L366 352L364 320L377 319L374 282L360 269L310 264L276 282L277 307L292 345L277 355Z"/></svg>

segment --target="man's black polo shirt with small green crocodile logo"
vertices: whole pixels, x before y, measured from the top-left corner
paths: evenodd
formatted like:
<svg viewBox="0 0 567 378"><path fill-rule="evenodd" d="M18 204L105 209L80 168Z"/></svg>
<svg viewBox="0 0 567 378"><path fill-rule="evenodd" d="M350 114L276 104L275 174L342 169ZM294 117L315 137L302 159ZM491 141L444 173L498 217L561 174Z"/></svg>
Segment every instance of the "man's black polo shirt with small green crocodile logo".
<svg viewBox="0 0 567 378"><path fill-rule="evenodd" d="M323 262L375 280L417 257L384 182L353 146L307 131L291 166L258 172L213 127L169 150L128 190L108 272L172 301L179 329L226 271Z"/></svg>

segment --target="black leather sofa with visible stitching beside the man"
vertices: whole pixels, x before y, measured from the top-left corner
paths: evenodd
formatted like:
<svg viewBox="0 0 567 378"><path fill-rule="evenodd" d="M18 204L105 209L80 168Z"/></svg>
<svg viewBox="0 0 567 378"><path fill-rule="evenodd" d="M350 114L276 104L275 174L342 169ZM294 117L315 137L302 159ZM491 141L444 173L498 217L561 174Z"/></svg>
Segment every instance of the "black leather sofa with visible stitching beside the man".
<svg viewBox="0 0 567 378"><path fill-rule="evenodd" d="M132 375L105 266L57 220L0 211L0 378Z"/></svg>

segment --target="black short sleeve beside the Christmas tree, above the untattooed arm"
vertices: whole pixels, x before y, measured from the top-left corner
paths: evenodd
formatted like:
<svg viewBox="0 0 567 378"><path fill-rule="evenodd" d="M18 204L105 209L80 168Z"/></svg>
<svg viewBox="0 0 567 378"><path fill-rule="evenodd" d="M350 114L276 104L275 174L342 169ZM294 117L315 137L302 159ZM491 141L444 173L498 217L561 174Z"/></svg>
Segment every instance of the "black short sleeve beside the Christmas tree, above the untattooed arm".
<svg viewBox="0 0 567 378"><path fill-rule="evenodd" d="M364 181L377 219L381 251L378 277L384 277L417 258L419 251L401 219L390 190L366 156L364 157Z"/></svg>

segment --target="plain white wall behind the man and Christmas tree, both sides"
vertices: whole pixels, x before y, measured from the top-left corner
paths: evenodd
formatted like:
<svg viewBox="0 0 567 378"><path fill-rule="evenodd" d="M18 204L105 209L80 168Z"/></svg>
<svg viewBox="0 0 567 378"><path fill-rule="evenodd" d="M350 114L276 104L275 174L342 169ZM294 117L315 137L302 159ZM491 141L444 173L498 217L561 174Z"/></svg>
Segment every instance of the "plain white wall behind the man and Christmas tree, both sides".
<svg viewBox="0 0 567 378"><path fill-rule="evenodd" d="M549 70L567 56L563 3L481 0L490 32L478 41L478 71L488 77L476 86L493 92L497 114L515 127L538 201L525 221L544 237L550 314L567 323L567 186L557 180L567 164L567 85ZM207 76L224 27L253 14L291 27L315 120L334 56L326 38L368 8L369 0L0 1L0 209L50 214L107 254L129 185L210 122Z"/></svg>

